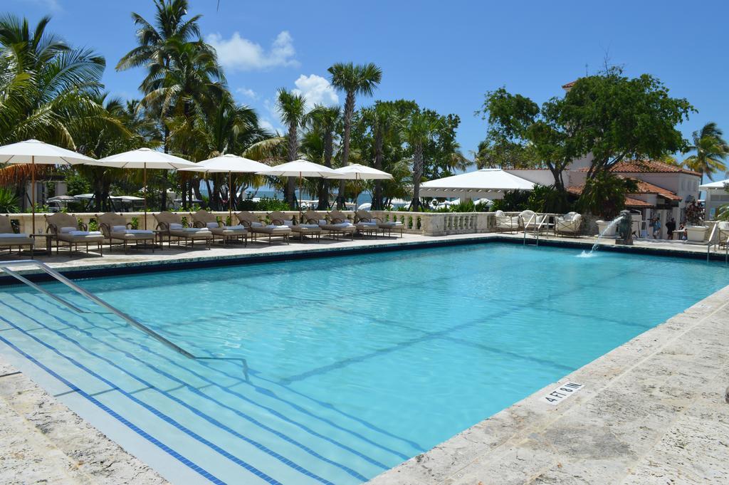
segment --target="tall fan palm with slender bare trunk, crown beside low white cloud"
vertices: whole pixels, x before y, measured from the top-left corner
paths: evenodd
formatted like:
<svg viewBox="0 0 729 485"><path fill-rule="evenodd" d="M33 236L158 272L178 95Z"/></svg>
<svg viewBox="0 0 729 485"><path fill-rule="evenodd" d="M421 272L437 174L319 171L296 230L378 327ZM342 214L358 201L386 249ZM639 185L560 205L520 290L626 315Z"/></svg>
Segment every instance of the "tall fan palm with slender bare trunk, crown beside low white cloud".
<svg viewBox="0 0 729 485"><path fill-rule="evenodd" d="M346 93L344 101L344 136L342 140L342 165L349 163L349 136L351 133L352 116L354 115L355 97L358 94L372 96L377 85L382 80L382 69L373 63L335 63L329 69L332 86ZM342 180L337 196L338 209L344 208L344 188Z"/></svg>

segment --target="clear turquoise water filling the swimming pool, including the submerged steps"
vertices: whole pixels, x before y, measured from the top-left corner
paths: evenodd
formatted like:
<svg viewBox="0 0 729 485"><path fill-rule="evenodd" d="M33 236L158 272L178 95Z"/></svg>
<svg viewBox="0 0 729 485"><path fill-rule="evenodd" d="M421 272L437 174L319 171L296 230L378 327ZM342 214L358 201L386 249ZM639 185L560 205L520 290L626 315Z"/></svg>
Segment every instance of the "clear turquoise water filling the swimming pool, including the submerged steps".
<svg viewBox="0 0 729 485"><path fill-rule="evenodd" d="M729 284L721 264L578 255L484 244L81 282L190 352L244 357L247 381L26 287L0 289L0 351L180 483L357 484Z"/></svg>

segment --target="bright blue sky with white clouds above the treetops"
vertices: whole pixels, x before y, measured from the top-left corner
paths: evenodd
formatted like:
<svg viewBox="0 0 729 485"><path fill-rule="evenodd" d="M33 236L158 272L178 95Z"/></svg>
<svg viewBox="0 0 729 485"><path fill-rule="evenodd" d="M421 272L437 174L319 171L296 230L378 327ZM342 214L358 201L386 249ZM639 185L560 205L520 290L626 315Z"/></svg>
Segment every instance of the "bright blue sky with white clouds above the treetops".
<svg viewBox="0 0 729 485"><path fill-rule="evenodd" d="M705 1L249 1L191 0L203 36L219 48L230 89L278 128L276 89L299 89L314 101L342 102L327 85L338 61L383 69L375 98L414 99L461 117L458 139L467 155L483 139L474 116L487 90L505 85L537 102L561 85L601 68L607 57L627 74L662 79L698 113L685 135L707 121L729 134L729 65L725 23L729 4ZM106 57L106 88L136 97L140 71L116 72L133 47L130 12L148 20L151 0L4 0L1 10L35 22ZM370 104L375 98L362 98Z"/></svg>

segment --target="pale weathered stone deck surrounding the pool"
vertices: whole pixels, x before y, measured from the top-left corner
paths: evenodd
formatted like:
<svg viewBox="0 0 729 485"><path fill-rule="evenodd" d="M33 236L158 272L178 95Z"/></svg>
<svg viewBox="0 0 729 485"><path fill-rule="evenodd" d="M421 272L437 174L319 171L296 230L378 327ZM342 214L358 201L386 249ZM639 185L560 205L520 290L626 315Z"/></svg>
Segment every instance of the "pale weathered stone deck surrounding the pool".
<svg viewBox="0 0 729 485"><path fill-rule="evenodd" d="M367 252L402 245L514 239L466 234L249 244L211 250L164 249L41 256L60 271L131 271L178 263L245 263L317 252ZM555 238L542 238L553 244ZM588 249L594 238L558 238ZM530 244L534 241L530 238ZM607 244L612 244L607 241ZM607 248L606 248L607 249ZM635 249L705 257L705 245L636 241ZM723 258L723 254L717 254ZM15 256L0 257L2 260ZM149 266L149 268L145 268ZM32 272L28 268L26 272ZM375 485L729 483L729 287L663 325L566 376L584 387L558 406L539 397L476 424L373 479ZM141 460L48 395L0 355L0 483L163 484Z"/></svg>

